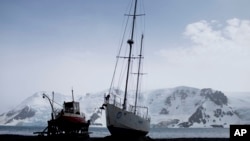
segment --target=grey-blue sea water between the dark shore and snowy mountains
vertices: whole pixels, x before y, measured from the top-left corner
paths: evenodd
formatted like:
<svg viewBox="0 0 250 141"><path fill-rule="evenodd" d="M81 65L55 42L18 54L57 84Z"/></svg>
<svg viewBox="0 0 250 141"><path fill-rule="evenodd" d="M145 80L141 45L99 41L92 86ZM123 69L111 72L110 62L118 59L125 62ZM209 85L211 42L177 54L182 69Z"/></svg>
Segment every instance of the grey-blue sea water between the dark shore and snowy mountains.
<svg viewBox="0 0 250 141"><path fill-rule="evenodd" d="M0 134L35 135L45 127L0 126ZM90 127L90 137L105 137L107 128ZM151 138L229 138L229 128L151 128L147 136Z"/></svg>

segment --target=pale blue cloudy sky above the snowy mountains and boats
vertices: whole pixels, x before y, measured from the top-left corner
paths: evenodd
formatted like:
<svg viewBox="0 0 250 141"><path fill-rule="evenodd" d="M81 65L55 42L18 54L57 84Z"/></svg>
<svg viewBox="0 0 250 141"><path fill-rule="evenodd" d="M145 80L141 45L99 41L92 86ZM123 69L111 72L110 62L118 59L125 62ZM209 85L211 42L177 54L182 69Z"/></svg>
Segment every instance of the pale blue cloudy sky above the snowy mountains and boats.
<svg viewBox="0 0 250 141"><path fill-rule="evenodd" d="M40 91L108 89L130 2L1 0L0 113ZM249 92L249 5L144 0L145 88Z"/></svg>

